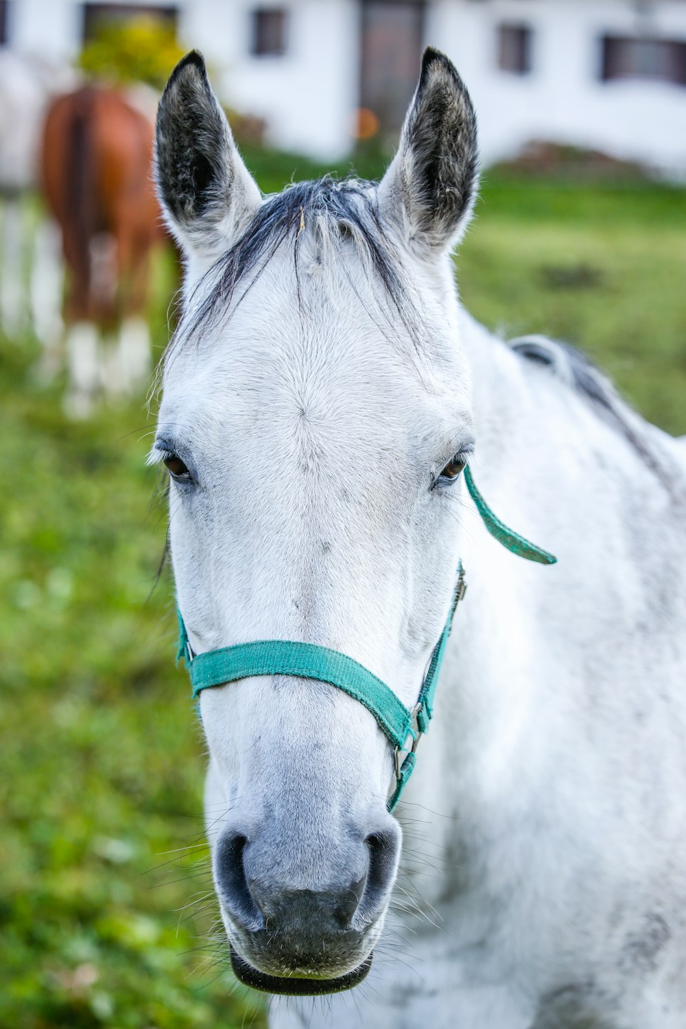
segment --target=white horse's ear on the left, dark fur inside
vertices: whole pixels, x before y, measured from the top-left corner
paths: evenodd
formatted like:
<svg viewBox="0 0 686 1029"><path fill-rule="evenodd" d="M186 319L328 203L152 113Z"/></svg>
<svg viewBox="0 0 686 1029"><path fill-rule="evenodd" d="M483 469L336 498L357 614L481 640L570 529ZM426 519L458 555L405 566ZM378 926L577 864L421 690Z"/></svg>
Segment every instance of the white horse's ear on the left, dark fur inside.
<svg viewBox="0 0 686 1029"><path fill-rule="evenodd" d="M155 176L195 279L228 250L261 202L197 50L179 62L159 101Z"/></svg>

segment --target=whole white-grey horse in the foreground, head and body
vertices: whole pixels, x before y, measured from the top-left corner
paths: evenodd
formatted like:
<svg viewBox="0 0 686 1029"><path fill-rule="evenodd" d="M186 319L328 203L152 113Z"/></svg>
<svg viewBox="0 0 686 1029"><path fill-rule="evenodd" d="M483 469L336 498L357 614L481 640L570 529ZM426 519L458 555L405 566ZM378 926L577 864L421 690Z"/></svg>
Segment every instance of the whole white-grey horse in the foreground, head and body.
<svg viewBox="0 0 686 1029"><path fill-rule="evenodd" d="M683 1029L684 443L575 353L460 306L476 129L437 51L378 185L263 198L197 54L156 162L186 283L151 460L192 650L319 644L411 708L460 560L469 581L397 817L392 748L342 690L202 693L237 974L359 984L275 1000L276 1029ZM498 545L467 464L556 565Z"/></svg>

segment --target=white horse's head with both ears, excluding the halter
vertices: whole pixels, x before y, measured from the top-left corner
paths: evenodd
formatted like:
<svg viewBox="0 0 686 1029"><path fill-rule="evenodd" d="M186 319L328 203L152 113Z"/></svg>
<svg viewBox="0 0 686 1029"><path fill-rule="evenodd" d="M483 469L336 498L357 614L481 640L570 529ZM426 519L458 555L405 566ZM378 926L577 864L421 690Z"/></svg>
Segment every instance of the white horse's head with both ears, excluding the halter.
<svg viewBox="0 0 686 1029"><path fill-rule="evenodd" d="M186 283L153 459L171 472L193 651L320 644L411 708L450 605L474 447L449 259L475 190L467 91L428 50L381 184L263 199L191 54L159 105L156 174ZM299 678L208 689L200 707L239 973L350 985L398 866L388 741L361 704Z"/></svg>

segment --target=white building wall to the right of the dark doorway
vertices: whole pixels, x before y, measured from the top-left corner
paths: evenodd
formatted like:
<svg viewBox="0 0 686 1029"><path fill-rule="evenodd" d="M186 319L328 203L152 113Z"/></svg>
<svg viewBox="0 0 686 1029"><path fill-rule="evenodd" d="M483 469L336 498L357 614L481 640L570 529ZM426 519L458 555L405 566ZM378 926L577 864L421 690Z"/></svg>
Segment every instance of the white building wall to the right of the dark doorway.
<svg viewBox="0 0 686 1029"><path fill-rule="evenodd" d="M594 147L615 156L686 174L686 87L647 80L599 78L605 34L686 41L686 3L637 14L627 0L436 0L427 42L440 40L470 90L484 164L509 156L532 139ZM497 27L521 22L534 30L533 70L497 67Z"/></svg>

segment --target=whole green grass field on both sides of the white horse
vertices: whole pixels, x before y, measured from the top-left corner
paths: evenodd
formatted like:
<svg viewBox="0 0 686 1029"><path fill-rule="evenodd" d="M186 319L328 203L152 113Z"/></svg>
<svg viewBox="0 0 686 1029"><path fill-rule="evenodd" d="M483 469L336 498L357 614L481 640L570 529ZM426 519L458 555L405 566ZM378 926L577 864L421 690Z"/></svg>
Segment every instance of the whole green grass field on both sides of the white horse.
<svg viewBox="0 0 686 1029"><path fill-rule="evenodd" d="M293 170L253 164L269 190ZM458 259L463 299L505 333L581 346L683 433L685 225L676 189L486 177ZM141 397L65 421L36 354L31 340L0 346L0 1026L261 1026L263 1003L231 990L207 944L203 743L166 573L153 589L166 520L144 464L152 418Z"/></svg>

